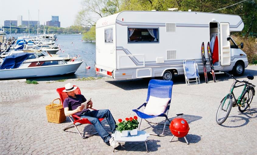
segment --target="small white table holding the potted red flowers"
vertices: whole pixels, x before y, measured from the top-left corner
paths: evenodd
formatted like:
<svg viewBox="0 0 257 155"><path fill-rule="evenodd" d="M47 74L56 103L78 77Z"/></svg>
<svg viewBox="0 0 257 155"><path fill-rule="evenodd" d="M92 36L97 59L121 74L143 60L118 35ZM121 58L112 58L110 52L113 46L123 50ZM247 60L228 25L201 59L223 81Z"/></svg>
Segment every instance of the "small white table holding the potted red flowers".
<svg viewBox="0 0 257 155"><path fill-rule="evenodd" d="M119 141L119 142L144 142L145 143L145 147L146 147L146 151L147 150L147 138L150 136L149 133L146 133L145 131L137 131L137 135L135 136L130 136L130 134L128 134L127 137L121 137L120 133L118 131L115 131L115 133L112 134L112 137L114 138L115 141ZM113 148L113 152L114 152Z"/></svg>

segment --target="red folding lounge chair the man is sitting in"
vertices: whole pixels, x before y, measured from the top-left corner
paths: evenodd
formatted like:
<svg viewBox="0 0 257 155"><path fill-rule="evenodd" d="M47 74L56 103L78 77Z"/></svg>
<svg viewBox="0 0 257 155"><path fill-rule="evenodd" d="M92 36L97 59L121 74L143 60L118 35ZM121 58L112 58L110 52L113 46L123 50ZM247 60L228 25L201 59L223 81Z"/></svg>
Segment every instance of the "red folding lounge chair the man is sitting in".
<svg viewBox="0 0 257 155"><path fill-rule="evenodd" d="M63 105L64 99L66 99L66 98L68 97L68 94L67 94L66 92L62 92L64 89L65 89L65 87L57 88L57 89L56 89L57 93L60 95L60 99L61 99L61 104L62 104L62 105ZM75 94L81 94L79 88L75 89ZM95 109L93 109L93 108L90 108L90 109L95 110ZM71 116L73 117L74 121L71 119ZM78 131L77 126L82 125L82 124L92 124L92 123L90 123L89 120L86 119L86 118L81 118L81 117L79 117L79 116L77 116L77 115L71 115L71 116L69 116L69 119L71 120L72 123L71 123L70 125L68 125L67 127L65 127L65 128L63 129L64 131L67 130L67 129L73 128L73 127L75 127L76 130ZM103 119L104 119L104 118L99 118L98 120L101 122ZM76 125L75 123L79 123L79 124ZM97 132L96 132L96 133L93 133L93 134L91 134L91 135L82 136L81 133L78 131L78 134L79 134L82 138L85 139L85 138L88 138L88 137L90 137L90 136L93 136L93 135L97 134Z"/></svg>

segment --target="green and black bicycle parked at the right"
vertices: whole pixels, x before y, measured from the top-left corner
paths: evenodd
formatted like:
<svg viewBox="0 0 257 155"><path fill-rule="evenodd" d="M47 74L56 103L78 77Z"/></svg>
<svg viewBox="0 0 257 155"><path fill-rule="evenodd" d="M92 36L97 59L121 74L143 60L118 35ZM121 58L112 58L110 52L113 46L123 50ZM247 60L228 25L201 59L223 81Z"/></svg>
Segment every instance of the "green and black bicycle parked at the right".
<svg viewBox="0 0 257 155"><path fill-rule="evenodd" d="M227 117L231 111L232 106L238 106L238 110L240 112L244 112L248 107L250 109L250 103L252 102L252 98L255 95L255 85L252 83L249 83L249 80L252 80L254 77L252 75L248 75L247 81L239 81L235 79L235 77L231 74L228 74L225 72L229 77L232 77L234 79L234 83L231 85L230 93L228 93L222 100L221 104L219 106L219 109L216 114L216 122L221 125L227 120ZM244 83L241 85L237 85L240 83ZM244 89L242 90L241 95L238 97L238 99L235 98L233 90L234 88L238 88L244 86ZM232 99L234 99L234 102L232 102Z"/></svg>

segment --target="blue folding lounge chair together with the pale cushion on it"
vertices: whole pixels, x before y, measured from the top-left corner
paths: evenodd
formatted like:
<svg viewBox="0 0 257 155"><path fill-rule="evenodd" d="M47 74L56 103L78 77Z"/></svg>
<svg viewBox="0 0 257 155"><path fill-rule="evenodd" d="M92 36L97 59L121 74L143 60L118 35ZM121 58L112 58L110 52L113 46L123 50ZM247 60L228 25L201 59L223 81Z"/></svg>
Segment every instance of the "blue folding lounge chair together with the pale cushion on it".
<svg viewBox="0 0 257 155"><path fill-rule="evenodd" d="M168 115L168 111L169 111L169 107L170 107L172 86L173 86L172 81L155 80L155 79L150 80L149 85L148 85L148 94L147 94L146 103L142 104L137 109L132 110L135 113L137 113L137 116L139 116L141 118L139 126L138 126L138 130L140 129L142 119L146 120L146 119L152 119L155 117L165 117L164 123L157 123L157 122L152 122L152 121L146 120L148 123L164 125L161 134L156 134L156 133L149 133L149 134L155 135L155 136L163 136L164 135L166 121L168 120L167 115ZM151 106L151 105L153 105L153 106ZM162 111L157 110L157 109L160 109L159 108L160 105L161 105L161 107L163 107ZM139 109L143 106L145 108L144 112L139 111ZM146 110L149 109L149 107L150 107L150 110L155 111L154 113L157 115L146 114ZM149 113L149 110L148 110L148 113ZM168 121L170 123L170 120L168 120ZM169 124L167 124L167 125L169 125Z"/></svg>

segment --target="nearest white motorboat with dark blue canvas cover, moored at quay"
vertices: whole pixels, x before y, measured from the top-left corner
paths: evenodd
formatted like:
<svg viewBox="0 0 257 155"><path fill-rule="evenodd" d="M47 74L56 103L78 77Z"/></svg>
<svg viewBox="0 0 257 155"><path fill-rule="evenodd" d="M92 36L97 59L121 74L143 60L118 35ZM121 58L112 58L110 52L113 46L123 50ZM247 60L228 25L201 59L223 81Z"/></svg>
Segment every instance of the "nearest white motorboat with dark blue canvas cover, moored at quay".
<svg viewBox="0 0 257 155"><path fill-rule="evenodd" d="M0 66L0 79L74 74L81 64L81 59L66 62L61 57L38 58L34 53L17 53L3 60Z"/></svg>

